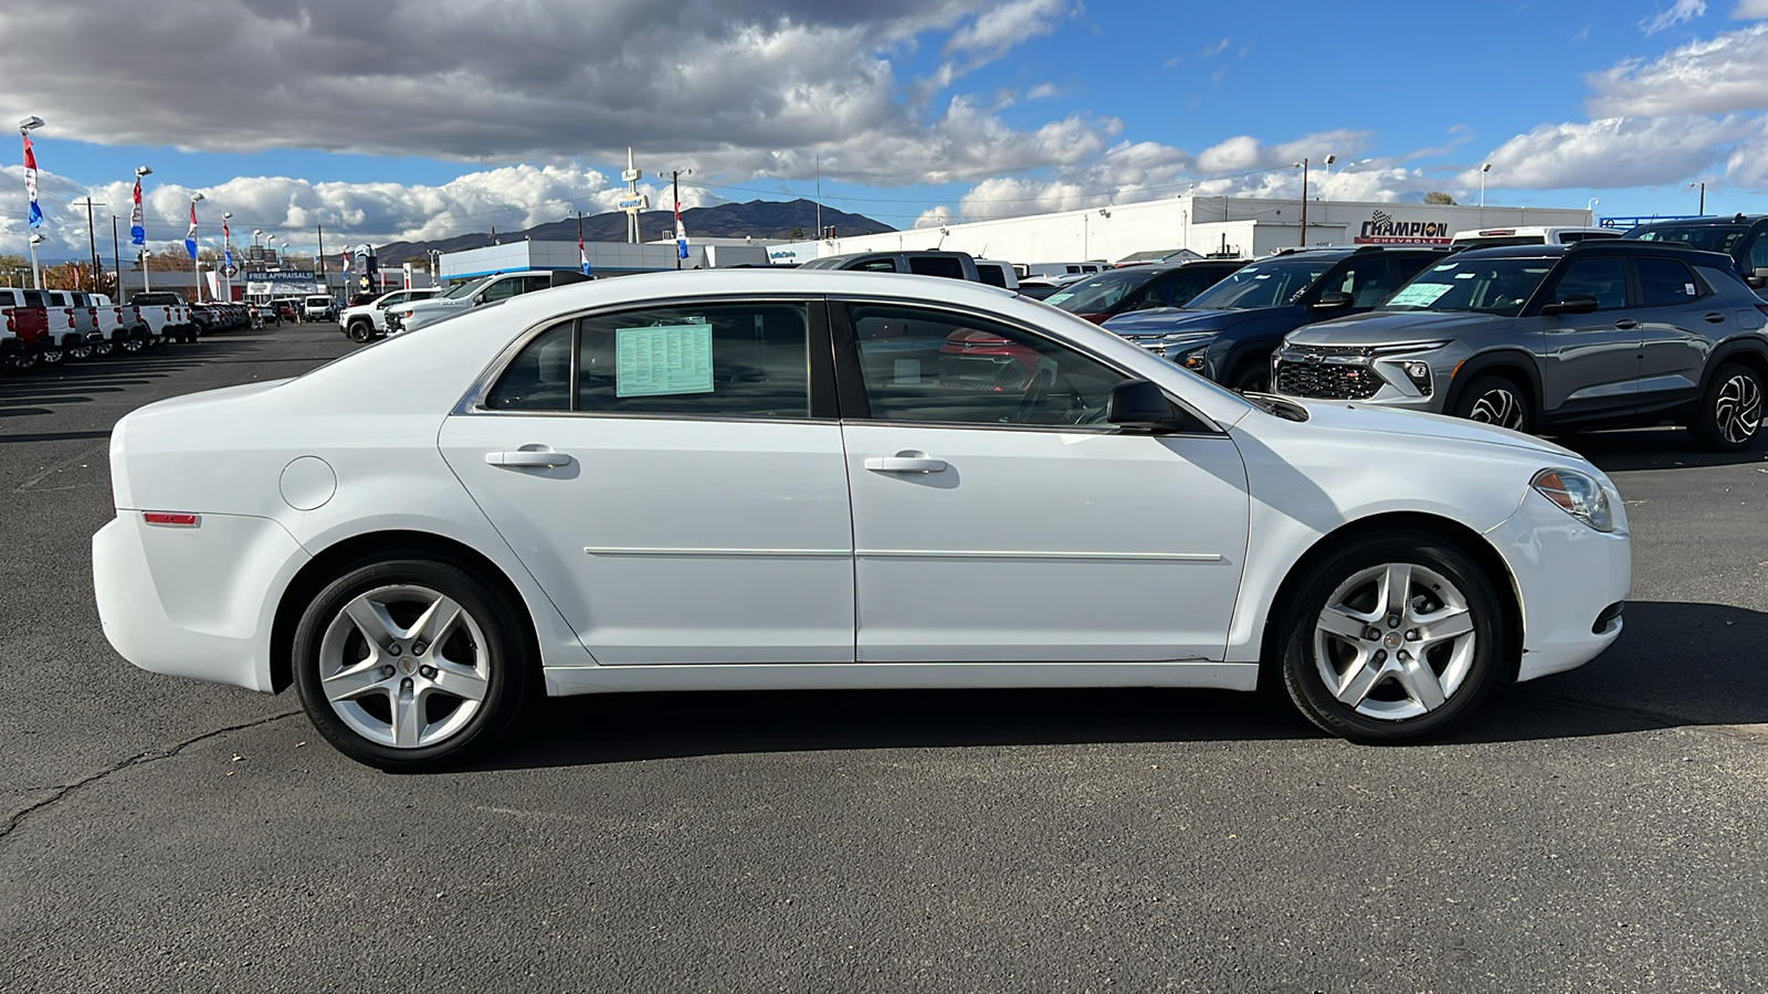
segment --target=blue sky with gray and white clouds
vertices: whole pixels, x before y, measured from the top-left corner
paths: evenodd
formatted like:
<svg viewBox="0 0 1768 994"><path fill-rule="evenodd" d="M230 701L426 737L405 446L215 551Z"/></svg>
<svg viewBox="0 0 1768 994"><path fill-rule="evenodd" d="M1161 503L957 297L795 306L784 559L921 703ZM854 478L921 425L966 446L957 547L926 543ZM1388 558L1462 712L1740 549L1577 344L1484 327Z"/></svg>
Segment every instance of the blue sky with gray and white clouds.
<svg viewBox="0 0 1768 994"><path fill-rule="evenodd" d="M1768 210L1768 0L57 0L0 7L46 256L150 164L149 237L311 246L813 196L907 228L1174 196ZM23 251L18 147L0 251ZM649 187L652 200L658 189ZM338 239L336 242L332 239ZM108 232L101 235L108 241Z"/></svg>

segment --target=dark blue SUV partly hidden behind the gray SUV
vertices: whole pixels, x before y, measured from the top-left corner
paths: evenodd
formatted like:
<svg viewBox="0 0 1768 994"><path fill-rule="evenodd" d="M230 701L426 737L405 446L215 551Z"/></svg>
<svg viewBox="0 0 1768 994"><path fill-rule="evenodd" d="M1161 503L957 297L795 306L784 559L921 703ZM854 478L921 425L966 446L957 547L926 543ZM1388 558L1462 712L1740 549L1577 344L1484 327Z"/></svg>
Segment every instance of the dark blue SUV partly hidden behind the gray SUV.
<svg viewBox="0 0 1768 994"><path fill-rule="evenodd" d="M1291 331L1372 310L1437 248L1284 249L1241 265L1185 308L1133 311L1105 322L1126 340L1238 391L1271 386L1271 352Z"/></svg>

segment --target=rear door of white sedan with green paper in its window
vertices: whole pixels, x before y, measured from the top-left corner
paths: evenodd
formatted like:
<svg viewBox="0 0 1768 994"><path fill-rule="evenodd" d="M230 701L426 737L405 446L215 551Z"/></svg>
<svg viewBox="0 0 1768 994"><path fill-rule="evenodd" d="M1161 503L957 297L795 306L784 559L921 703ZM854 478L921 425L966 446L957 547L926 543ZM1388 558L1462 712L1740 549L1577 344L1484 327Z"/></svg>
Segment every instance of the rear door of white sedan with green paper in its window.
<svg viewBox="0 0 1768 994"><path fill-rule="evenodd" d="M812 416L810 318L764 301L564 322L442 426L596 661L854 660L847 470L840 424Z"/></svg>

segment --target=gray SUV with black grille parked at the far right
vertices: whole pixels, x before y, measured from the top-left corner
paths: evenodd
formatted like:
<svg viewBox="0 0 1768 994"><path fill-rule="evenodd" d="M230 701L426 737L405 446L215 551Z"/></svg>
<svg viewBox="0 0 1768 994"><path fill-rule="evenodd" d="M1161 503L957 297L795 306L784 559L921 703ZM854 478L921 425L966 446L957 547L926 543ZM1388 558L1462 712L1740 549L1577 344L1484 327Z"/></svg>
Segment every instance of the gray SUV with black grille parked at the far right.
<svg viewBox="0 0 1768 994"><path fill-rule="evenodd" d="M1473 249L1379 310L1301 327L1276 393L1455 414L1519 432L1674 421L1761 439L1768 304L1718 253L1639 241Z"/></svg>

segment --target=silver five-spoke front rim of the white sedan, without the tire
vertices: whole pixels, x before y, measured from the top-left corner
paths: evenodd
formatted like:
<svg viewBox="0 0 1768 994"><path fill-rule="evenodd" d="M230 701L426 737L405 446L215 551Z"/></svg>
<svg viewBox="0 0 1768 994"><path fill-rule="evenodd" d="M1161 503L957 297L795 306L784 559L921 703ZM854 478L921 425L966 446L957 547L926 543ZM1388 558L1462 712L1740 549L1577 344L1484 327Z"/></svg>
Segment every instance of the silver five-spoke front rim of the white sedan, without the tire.
<svg viewBox="0 0 1768 994"><path fill-rule="evenodd" d="M1443 707L1473 669L1467 598L1413 562L1370 566L1338 585L1314 626L1326 690L1368 718L1400 722Z"/></svg>

